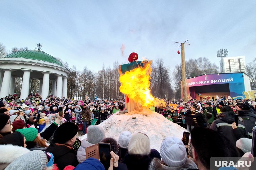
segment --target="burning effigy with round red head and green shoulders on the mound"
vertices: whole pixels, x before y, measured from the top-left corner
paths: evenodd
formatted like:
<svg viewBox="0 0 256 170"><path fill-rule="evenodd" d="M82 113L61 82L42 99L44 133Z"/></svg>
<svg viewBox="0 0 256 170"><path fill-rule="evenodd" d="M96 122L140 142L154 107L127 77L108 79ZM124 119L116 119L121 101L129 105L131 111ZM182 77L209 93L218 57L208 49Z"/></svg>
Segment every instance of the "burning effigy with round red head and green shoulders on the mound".
<svg viewBox="0 0 256 170"><path fill-rule="evenodd" d="M121 82L120 92L126 95L125 107L130 114L150 115L151 106L164 105L163 100L155 98L150 91L150 61L137 61L138 54L131 53L129 64L119 66L119 81Z"/></svg>

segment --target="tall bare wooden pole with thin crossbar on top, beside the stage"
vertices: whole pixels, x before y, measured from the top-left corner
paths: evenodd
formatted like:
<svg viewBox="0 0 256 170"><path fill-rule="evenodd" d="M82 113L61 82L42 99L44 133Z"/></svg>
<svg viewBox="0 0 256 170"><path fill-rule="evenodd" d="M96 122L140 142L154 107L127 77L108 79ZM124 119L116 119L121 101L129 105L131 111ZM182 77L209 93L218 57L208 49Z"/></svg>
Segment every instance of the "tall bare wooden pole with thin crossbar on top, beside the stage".
<svg viewBox="0 0 256 170"><path fill-rule="evenodd" d="M187 40L188 41L188 40ZM185 51L184 51L184 44L186 44L186 42L183 43L179 43L181 44L181 73L182 73L182 92L183 92L183 101L187 102L187 86L186 86L186 69L185 69ZM178 42L175 42L178 43ZM188 44L190 45L190 44ZM179 46L179 47L180 47Z"/></svg>

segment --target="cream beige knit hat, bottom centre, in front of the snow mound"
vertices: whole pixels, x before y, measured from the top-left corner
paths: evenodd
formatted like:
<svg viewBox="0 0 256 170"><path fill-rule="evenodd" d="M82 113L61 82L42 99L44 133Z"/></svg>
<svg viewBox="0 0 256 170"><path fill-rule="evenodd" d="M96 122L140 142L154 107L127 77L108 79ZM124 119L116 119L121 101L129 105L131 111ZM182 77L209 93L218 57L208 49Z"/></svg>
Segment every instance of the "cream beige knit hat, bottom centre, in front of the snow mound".
<svg viewBox="0 0 256 170"><path fill-rule="evenodd" d="M149 138L143 133L135 133L132 135L128 146L129 154L149 155L150 146Z"/></svg>

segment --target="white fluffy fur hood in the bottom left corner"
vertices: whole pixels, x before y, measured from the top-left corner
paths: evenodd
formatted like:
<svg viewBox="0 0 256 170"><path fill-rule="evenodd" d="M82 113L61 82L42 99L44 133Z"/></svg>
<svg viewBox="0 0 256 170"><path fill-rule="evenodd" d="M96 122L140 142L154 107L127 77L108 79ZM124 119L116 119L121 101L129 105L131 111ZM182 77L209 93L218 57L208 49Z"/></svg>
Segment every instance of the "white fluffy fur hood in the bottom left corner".
<svg viewBox="0 0 256 170"><path fill-rule="evenodd" d="M0 145L0 163L9 164L18 157L30 152L30 150L11 144Z"/></svg>

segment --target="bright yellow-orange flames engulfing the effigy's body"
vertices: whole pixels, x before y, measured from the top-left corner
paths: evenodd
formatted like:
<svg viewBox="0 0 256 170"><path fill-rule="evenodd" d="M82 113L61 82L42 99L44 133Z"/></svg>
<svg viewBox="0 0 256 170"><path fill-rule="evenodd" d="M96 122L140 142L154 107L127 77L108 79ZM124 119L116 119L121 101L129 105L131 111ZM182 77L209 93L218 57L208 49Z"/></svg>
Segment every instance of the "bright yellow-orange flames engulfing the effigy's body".
<svg viewBox="0 0 256 170"><path fill-rule="evenodd" d="M136 103L140 103L142 107L150 108L151 106L164 106L164 101L155 98L150 91L150 60L145 67L138 67L121 75L120 92L133 99Z"/></svg>

